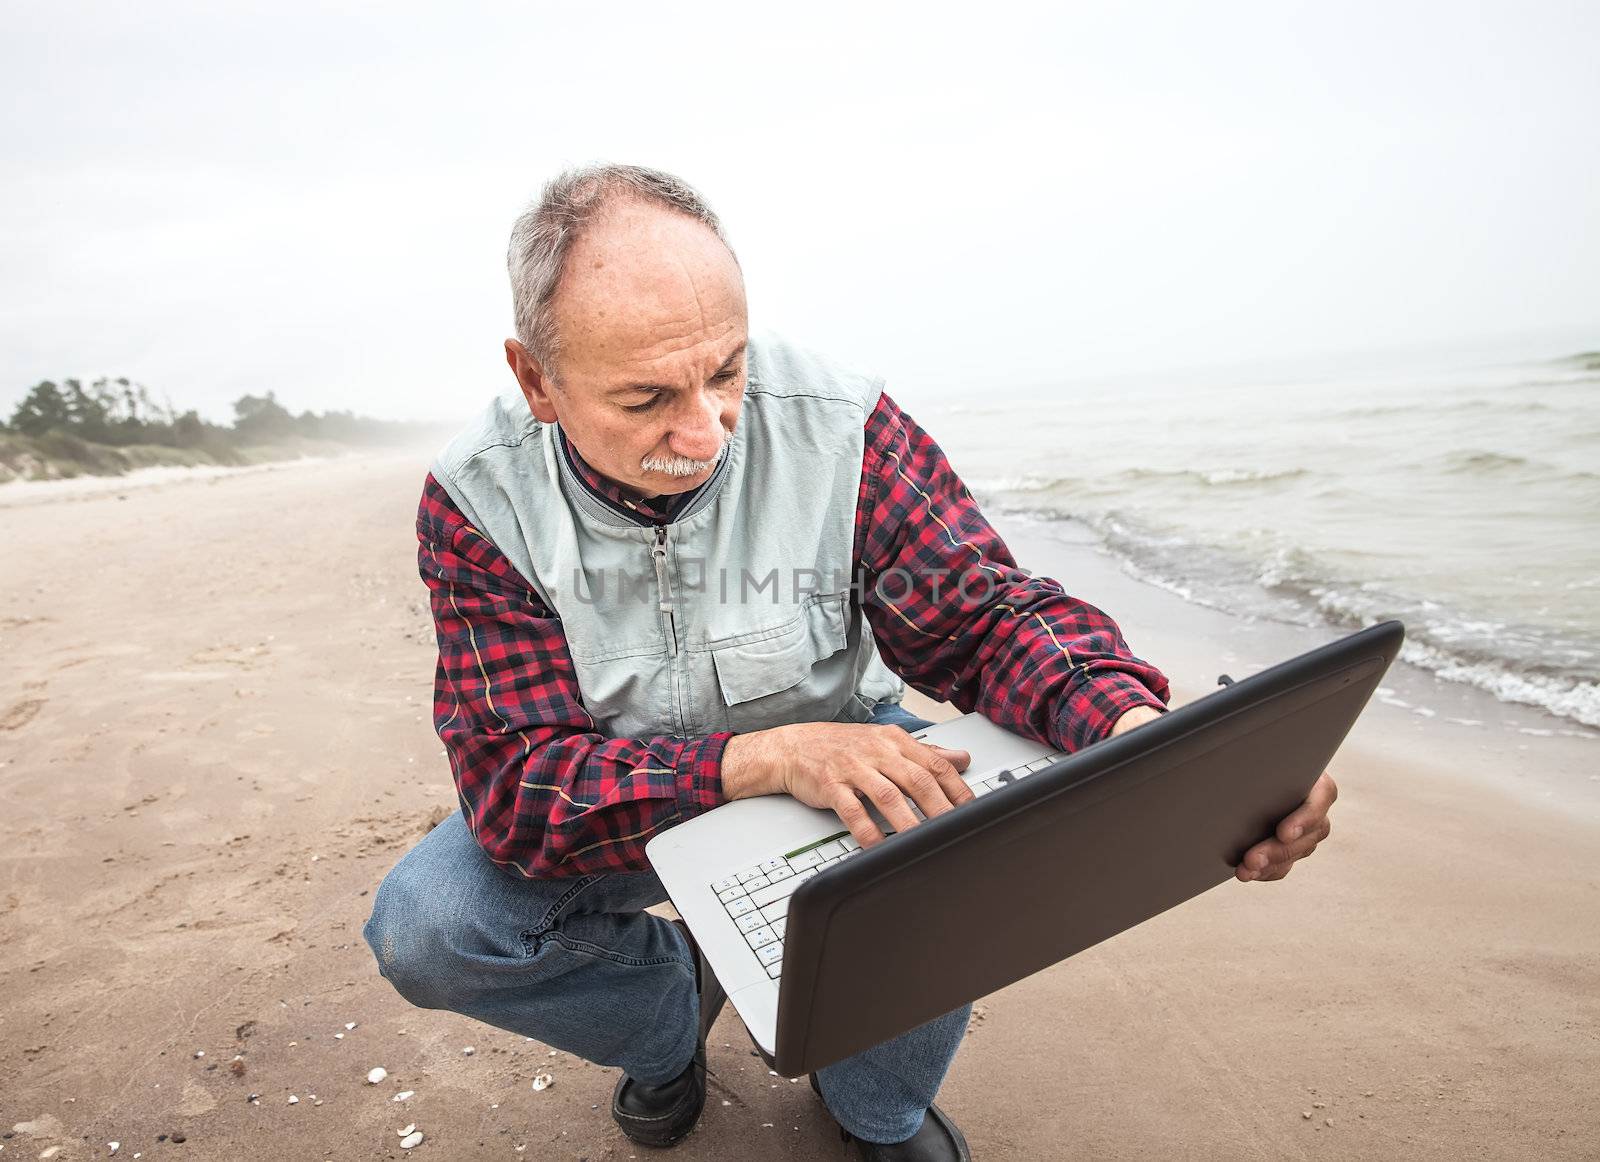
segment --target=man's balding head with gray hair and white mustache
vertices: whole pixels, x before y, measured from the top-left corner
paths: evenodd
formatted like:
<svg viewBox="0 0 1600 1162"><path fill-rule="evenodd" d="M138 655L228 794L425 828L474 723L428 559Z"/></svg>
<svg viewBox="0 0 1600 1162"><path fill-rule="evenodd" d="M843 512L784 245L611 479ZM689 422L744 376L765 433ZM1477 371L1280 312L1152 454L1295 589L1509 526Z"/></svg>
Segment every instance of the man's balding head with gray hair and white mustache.
<svg viewBox="0 0 1600 1162"><path fill-rule="evenodd" d="M592 467L646 496L686 491L738 424L744 278L688 186L630 168L643 187L614 181L619 170L563 174L518 221L506 360L534 418Z"/></svg>

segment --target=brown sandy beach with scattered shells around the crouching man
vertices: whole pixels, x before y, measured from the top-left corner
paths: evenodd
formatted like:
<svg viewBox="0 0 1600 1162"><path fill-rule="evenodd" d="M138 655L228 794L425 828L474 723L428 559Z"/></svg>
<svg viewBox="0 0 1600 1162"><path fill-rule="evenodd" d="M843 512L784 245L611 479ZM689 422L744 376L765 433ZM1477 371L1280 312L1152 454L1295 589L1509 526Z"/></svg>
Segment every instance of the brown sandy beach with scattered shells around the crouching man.
<svg viewBox="0 0 1600 1162"><path fill-rule="evenodd" d="M398 1157L410 1124L418 1157L645 1152L606 1114L611 1071L408 1007L360 938L453 810L413 559L426 461L0 490L0 1162ZM1184 698L1328 637L1003 528ZM941 1095L976 1157L1600 1152L1600 746L1418 672L1387 687L1334 765L1333 839L1288 880L979 1002ZM851 1157L736 1021L677 1156Z"/></svg>

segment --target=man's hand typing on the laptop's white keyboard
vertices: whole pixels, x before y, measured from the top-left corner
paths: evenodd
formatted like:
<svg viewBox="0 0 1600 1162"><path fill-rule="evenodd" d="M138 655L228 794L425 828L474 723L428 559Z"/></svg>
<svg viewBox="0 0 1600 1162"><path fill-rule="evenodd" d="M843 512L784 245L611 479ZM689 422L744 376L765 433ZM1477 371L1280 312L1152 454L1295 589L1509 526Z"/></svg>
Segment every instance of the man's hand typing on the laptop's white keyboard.
<svg viewBox="0 0 1600 1162"><path fill-rule="evenodd" d="M962 781L971 755L918 743L899 727L800 722L734 735L722 755L728 799L790 794L838 815L862 847L883 840L862 799L896 831L917 826L910 797L928 818L973 797Z"/></svg>

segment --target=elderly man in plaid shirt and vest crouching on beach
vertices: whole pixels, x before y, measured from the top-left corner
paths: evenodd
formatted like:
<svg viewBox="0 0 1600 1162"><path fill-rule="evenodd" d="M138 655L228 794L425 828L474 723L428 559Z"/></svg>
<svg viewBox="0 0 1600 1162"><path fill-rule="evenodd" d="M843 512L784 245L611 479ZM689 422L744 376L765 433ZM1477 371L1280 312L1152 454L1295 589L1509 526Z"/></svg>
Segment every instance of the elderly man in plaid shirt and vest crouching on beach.
<svg viewBox="0 0 1600 1162"><path fill-rule="evenodd" d="M653 834L790 794L883 842L864 800L912 827L907 799L971 799L968 755L907 733L904 682L1078 749L1160 714L1166 679L1016 567L878 381L747 333L739 264L678 179L562 174L509 264L520 394L442 453L418 517L461 813L384 879L366 940L413 1004L621 1068L611 1116L669 1146L720 994L643 911ZM1286 874L1331 800L1323 776L1238 879ZM965 1026L811 1079L862 1157L968 1157L933 1104Z"/></svg>

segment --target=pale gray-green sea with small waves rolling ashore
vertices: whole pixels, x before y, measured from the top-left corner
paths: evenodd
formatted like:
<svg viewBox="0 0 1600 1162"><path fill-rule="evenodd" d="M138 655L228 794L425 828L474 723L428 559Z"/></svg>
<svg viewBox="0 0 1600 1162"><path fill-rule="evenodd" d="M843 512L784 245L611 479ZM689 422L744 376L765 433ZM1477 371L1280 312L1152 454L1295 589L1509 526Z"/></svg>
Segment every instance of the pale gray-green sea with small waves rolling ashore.
<svg viewBox="0 0 1600 1162"><path fill-rule="evenodd" d="M1083 525L1246 618L1400 618L1406 661L1600 727L1600 352L1008 387L914 418L986 511Z"/></svg>

